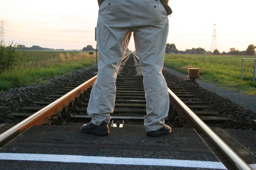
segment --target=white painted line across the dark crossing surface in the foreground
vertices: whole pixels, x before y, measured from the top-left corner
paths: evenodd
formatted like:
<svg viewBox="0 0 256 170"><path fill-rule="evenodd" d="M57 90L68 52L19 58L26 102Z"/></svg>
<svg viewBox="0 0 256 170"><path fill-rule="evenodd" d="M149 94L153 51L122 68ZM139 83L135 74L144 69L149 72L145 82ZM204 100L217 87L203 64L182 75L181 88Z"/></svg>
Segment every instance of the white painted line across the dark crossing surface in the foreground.
<svg viewBox="0 0 256 170"><path fill-rule="evenodd" d="M61 154L0 153L0 160L50 161L97 164L127 164L144 166L170 166L189 168L227 169L221 162L189 161L178 159L95 157Z"/></svg>

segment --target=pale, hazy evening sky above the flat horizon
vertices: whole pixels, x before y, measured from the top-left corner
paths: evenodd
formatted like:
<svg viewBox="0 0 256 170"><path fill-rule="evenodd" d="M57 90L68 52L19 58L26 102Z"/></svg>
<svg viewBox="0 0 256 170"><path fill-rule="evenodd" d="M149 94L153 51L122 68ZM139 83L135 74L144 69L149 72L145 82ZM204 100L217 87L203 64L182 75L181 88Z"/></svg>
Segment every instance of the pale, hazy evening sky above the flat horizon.
<svg viewBox="0 0 256 170"><path fill-rule="evenodd" d="M96 0L0 0L0 4L4 27L1 32L6 45L13 42L26 47L66 50L87 45L96 48ZM250 44L256 46L255 5L254 0L169 0L173 14L169 17L167 43L174 43L180 51L199 47L211 51L216 24L219 52L229 52L230 48L244 51ZM135 50L133 37L129 49Z"/></svg>

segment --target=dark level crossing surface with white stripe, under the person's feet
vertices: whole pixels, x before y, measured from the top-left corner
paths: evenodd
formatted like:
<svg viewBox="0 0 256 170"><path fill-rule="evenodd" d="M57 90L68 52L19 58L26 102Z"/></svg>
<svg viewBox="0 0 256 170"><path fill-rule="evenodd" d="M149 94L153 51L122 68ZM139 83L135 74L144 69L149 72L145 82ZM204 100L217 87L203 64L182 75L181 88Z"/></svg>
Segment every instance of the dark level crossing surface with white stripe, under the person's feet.
<svg viewBox="0 0 256 170"><path fill-rule="evenodd" d="M1 169L225 169L192 128L160 137L144 127L110 127L93 136L78 126L32 126L0 149Z"/></svg>

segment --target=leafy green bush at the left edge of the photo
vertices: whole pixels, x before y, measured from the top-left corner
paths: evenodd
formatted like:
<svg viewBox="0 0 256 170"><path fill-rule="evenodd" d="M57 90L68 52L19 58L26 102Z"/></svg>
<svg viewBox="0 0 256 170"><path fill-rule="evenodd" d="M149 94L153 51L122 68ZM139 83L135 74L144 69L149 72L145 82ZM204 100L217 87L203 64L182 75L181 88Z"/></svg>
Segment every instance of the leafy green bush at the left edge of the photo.
<svg viewBox="0 0 256 170"><path fill-rule="evenodd" d="M3 42L0 43L0 73L11 70L18 66L22 61L24 53L19 53L17 45L12 43L9 46L4 46Z"/></svg>

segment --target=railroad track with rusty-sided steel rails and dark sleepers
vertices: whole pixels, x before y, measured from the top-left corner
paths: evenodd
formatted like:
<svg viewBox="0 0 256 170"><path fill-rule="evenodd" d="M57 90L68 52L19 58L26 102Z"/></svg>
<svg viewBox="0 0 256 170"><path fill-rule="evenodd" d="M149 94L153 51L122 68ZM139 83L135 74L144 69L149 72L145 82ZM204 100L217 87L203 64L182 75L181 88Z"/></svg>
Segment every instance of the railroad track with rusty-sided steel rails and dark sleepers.
<svg viewBox="0 0 256 170"><path fill-rule="evenodd" d="M129 57L130 55L126 56L127 59L132 58L132 56ZM56 94L45 98L49 101L35 102L38 104L38 107L24 107L24 113L13 113L13 116L27 118L0 134L0 146L33 125L64 125L66 120L90 121L90 117L86 114L86 107L90 97L91 86L96 78L97 76L77 87L72 86L60 89ZM219 129L216 129L214 132L205 124L214 121L228 121L228 119L218 117L218 112L210 111L211 107L204 106L203 101L196 99L195 96L186 92L178 84L169 81L167 81L167 84L171 101L170 113L168 118L166 118L167 124L169 123L170 126L175 124L176 127L179 124L180 127L194 128L201 136L207 138L205 141L209 140L215 148L218 148L221 155L234 168L249 169L248 163L241 158L241 155L239 156L239 153L235 153L215 132L218 132L220 135L223 135L223 133ZM111 114L111 126L143 126L146 114L146 101L142 76L120 75L117 77L116 87L116 104L114 113ZM52 100L54 102L51 102ZM243 152L242 157L250 157L249 161L251 162L255 160L255 157L249 152Z"/></svg>

